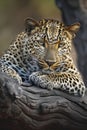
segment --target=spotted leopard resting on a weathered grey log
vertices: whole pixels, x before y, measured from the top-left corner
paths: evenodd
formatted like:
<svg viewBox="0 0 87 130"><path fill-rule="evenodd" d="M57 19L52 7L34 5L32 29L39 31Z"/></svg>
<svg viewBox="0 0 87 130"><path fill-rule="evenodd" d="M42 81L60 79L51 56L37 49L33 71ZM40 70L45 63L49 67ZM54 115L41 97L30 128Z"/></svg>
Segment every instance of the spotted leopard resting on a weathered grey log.
<svg viewBox="0 0 87 130"><path fill-rule="evenodd" d="M56 19L25 20L19 33L0 58L0 71L20 85L31 83L48 90L84 96L86 87L71 56L72 41L80 23L64 25Z"/></svg>

